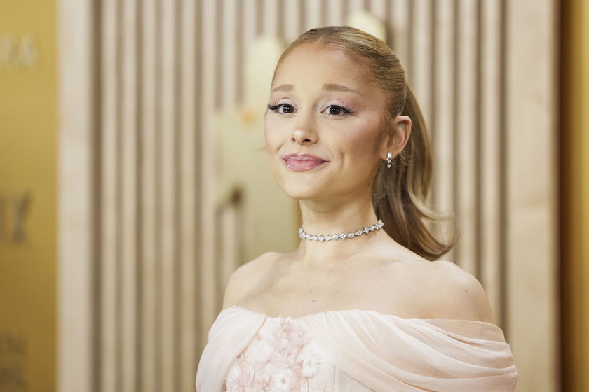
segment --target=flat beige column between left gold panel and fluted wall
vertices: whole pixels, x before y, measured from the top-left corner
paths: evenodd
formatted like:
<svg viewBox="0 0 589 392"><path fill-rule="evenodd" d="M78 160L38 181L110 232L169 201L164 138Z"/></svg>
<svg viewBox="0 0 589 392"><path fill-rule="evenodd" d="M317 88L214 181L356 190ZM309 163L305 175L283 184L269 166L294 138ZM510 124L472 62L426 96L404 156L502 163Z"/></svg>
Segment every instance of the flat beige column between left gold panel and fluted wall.
<svg viewBox="0 0 589 392"><path fill-rule="evenodd" d="M95 15L93 1L57 1L59 209L57 390L97 391ZM112 390L114 391L114 389Z"/></svg>

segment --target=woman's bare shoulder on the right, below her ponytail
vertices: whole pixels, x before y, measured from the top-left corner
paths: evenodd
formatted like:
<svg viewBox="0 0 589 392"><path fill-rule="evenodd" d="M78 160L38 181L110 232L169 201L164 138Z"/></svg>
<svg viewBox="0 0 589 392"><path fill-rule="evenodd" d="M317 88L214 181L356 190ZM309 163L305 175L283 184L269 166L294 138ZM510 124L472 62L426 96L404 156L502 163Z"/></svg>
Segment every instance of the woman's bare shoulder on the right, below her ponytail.
<svg viewBox="0 0 589 392"><path fill-rule="evenodd" d="M485 290L473 275L448 261L426 262L422 266L431 318L495 323Z"/></svg>

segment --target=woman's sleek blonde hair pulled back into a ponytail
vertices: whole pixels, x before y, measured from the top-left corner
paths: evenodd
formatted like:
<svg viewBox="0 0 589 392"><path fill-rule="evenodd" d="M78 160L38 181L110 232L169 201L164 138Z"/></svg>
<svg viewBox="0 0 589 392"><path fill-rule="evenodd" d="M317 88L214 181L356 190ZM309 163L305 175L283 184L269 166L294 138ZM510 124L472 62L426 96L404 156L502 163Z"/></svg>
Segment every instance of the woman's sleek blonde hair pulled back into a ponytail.
<svg viewBox="0 0 589 392"><path fill-rule="evenodd" d="M368 80L388 96L384 113L387 132L395 131L393 120L398 115L411 118L411 137L404 151L394 158L393 168L388 169L382 162L377 171L372 203L391 238L423 258L439 258L452 248L456 239L452 235L448 241L442 241L431 228L433 223L447 219L427 204L433 177L431 140L398 57L386 43L364 31L330 26L311 29L299 36L280 56L278 66L294 48L305 43L335 45L365 66Z"/></svg>

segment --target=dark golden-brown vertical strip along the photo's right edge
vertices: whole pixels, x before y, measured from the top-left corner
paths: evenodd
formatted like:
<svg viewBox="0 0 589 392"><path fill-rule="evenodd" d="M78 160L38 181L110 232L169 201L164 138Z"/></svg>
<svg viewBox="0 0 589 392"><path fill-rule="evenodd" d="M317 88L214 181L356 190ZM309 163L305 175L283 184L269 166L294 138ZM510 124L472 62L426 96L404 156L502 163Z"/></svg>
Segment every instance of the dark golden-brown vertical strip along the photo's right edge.
<svg viewBox="0 0 589 392"><path fill-rule="evenodd" d="M562 2L562 388L589 388L589 3Z"/></svg>

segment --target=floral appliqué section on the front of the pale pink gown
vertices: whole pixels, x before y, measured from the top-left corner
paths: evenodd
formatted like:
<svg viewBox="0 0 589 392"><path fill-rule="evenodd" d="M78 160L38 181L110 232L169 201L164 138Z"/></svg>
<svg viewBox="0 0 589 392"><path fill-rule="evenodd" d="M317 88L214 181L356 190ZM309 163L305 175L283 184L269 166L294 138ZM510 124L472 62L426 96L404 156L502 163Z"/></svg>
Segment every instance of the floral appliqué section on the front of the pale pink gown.
<svg viewBox="0 0 589 392"><path fill-rule="evenodd" d="M310 340L296 320L267 318L229 368L226 391L315 391L311 380L321 363Z"/></svg>

